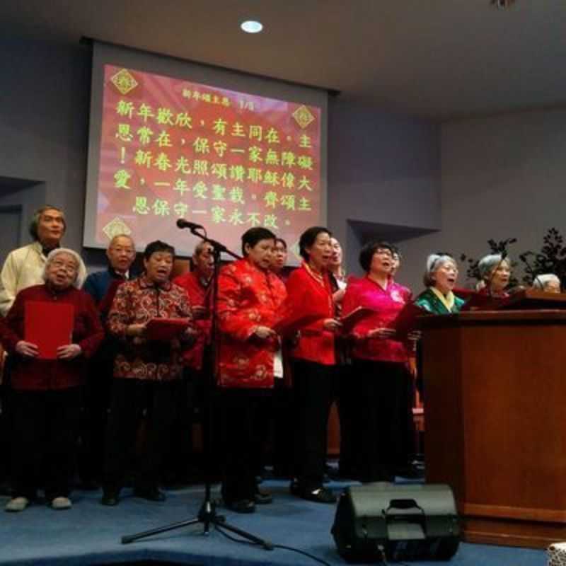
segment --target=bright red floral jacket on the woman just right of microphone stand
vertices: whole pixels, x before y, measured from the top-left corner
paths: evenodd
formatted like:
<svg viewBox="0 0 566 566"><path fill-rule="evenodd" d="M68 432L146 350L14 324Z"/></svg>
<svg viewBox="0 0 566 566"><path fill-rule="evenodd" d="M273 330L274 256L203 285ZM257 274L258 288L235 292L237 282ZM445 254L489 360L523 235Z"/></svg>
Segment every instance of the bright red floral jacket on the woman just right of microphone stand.
<svg viewBox="0 0 566 566"><path fill-rule="evenodd" d="M218 282L220 331L219 385L273 387L274 354L279 340L260 340L255 328L273 328L287 292L281 279L246 258L224 267Z"/></svg>

